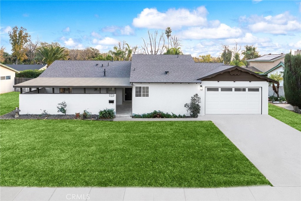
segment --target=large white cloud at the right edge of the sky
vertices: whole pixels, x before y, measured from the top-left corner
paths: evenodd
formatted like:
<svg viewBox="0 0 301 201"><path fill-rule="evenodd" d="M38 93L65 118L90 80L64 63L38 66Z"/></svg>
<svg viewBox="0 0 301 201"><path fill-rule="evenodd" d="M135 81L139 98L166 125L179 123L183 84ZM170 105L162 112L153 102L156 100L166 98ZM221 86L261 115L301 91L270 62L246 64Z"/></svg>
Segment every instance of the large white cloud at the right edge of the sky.
<svg viewBox="0 0 301 201"><path fill-rule="evenodd" d="M249 29L254 33L269 33L269 34L287 34L288 32L298 31L300 33L301 24L288 11L272 16L252 15L249 18L240 17L240 21L248 22Z"/></svg>

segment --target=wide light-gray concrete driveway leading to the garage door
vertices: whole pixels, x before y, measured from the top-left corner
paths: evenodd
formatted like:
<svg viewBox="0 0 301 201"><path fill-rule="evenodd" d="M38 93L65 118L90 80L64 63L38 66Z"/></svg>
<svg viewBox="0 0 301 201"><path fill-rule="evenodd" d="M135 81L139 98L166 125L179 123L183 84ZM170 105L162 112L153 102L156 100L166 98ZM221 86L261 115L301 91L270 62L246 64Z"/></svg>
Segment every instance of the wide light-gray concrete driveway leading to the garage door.
<svg viewBox="0 0 301 201"><path fill-rule="evenodd" d="M301 186L301 132L269 115L205 115L275 187Z"/></svg>

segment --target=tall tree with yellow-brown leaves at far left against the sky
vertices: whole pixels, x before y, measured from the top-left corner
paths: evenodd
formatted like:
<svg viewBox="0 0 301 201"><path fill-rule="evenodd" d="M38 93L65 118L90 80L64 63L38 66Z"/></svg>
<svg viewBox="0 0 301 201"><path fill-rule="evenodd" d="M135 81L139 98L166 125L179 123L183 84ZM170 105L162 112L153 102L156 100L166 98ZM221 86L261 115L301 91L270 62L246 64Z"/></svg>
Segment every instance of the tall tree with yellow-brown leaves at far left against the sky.
<svg viewBox="0 0 301 201"><path fill-rule="evenodd" d="M27 58L25 44L30 39L30 35L26 32L25 28L20 27L19 29L17 26L13 27L12 31L8 32L8 35L12 46L12 55L17 58L16 64L18 64L18 60L22 62Z"/></svg>

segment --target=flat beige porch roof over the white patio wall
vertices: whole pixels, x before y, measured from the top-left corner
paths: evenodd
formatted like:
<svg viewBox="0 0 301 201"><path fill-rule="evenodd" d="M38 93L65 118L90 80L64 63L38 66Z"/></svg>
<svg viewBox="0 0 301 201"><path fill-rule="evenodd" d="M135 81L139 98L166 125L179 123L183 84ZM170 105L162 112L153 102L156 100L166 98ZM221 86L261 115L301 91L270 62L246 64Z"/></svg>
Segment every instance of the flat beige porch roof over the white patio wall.
<svg viewBox="0 0 301 201"><path fill-rule="evenodd" d="M14 88L67 87L67 88L101 88L131 87L129 78L35 78L14 85Z"/></svg>

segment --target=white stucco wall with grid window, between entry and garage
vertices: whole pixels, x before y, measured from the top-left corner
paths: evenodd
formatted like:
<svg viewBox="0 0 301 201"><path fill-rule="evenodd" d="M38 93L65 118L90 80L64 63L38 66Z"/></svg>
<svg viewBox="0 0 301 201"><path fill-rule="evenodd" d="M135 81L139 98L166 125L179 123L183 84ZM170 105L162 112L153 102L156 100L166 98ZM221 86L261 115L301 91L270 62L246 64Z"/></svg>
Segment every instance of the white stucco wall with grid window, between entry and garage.
<svg viewBox="0 0 301 201"><path fill-rule="evenodd" d="M149 87L149 97L135 97L135 88L139 86ZM132 112L143 114L161 110L169 114L189 115L184 105L199 91L200 84L196 83L133 83Z"/></svg>

